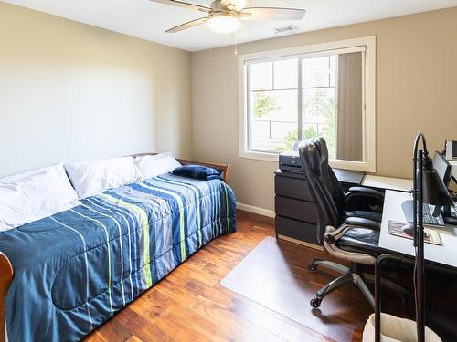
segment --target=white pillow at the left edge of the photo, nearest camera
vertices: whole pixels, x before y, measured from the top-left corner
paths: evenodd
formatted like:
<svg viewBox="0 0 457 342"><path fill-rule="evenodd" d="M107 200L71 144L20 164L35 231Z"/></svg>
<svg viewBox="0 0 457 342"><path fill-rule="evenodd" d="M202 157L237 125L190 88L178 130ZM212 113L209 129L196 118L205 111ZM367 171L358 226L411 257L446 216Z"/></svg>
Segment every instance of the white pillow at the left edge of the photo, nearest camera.
<svg viewBox="0 0 457 342"><path fill-rule="evenodd" d="M0 232L78 204L62 164L0 178Z"/></svg>

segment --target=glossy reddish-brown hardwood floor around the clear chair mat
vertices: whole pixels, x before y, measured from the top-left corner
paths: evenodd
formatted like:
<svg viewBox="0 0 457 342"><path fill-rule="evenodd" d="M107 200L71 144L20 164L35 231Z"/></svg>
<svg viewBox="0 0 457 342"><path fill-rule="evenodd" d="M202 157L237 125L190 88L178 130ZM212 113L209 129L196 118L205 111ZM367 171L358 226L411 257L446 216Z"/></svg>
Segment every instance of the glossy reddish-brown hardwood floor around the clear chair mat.
<svg viewBox="0 0 457 342"><path fill-rule="evenodd" d="M87 341L333 341L271 309L237 295L219 284L266 236L274 236L272 219L239 212L238 232L207 244L187 261L146 291L132 304L95 330ZM303 267L319 252L288 244ZM314 277L309 291L329 281ZM322 284L321 284L322 283ZM349 287L336 291L333 298L349 295L358 298ZM370 308L363 300L354 300L351 310L343 309L356 329L352 341L360 341ZM309 315L312 310L309 310ZM329 318L328 328L337 323ZM343 342L343 341L338 341Z"/></svg>

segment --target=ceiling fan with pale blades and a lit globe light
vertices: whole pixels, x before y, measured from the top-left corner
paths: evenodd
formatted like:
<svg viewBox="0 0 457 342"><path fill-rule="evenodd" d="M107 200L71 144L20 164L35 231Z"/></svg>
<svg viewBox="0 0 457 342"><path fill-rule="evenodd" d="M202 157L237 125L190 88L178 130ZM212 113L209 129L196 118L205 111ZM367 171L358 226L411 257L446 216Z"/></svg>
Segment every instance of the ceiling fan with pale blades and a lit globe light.
<svg viewBox="0 0 457 342"><path fill-rule="evenodd" d="M240 20L302 20L306 11L299 8L282 7L241 7L236 0L215 0L209 7L186 3L179 0L151 0L155 3L175 5L199 12L206 13L207 16L188 21L184 24L172 27L165 33L175 33L186 30L194 26L207 23L209 28L218 33L231 33L239 28ZM230 2L231 1L231 2Z"/></svg>

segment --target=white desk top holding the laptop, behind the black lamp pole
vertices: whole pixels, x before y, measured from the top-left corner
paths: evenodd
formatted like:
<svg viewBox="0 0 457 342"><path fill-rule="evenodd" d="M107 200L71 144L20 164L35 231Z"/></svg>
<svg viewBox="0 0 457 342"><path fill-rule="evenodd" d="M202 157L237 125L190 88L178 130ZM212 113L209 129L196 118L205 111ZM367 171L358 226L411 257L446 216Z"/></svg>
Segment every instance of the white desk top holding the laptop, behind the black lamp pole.
<svg viewBox="0 0 457 342"><path fill-rule="evenodd" d="M407 220L401 209L401 203L410 199L411 195L408 192L386 191L379 247L414 256L412 240L388 233L388 220L406 223ZM425 259L434 263L457 267L457 226L446 225L443 228L433 229L440 233L442 244L425 244Z"/></svg>

